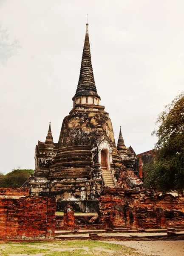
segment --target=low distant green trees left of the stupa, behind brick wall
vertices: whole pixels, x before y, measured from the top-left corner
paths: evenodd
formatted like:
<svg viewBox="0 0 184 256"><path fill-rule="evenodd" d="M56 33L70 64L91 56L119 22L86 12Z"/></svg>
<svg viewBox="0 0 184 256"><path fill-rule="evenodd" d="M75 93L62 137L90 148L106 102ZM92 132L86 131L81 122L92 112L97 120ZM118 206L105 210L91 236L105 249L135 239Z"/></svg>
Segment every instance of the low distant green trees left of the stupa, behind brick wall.
<svg viewBox="0 0 184 256"><path fill-rule="evenodd" d="M33 172L34 170L32 169L13 169L6 175L0 173L0 187L20 188Z"/></svg>

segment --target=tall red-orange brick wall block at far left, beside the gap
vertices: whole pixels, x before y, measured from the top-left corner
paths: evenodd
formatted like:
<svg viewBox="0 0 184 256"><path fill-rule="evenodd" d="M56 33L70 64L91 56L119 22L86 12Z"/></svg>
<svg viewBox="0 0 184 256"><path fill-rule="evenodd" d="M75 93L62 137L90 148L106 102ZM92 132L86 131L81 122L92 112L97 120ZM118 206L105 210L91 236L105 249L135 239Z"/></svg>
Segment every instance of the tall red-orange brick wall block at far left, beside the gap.
<svg viewBox="0 0 184 256"><path fill-rule="evenodd" d="M0 240L54 239L55 199L30 197L28 188L0 192Z"/></svg>

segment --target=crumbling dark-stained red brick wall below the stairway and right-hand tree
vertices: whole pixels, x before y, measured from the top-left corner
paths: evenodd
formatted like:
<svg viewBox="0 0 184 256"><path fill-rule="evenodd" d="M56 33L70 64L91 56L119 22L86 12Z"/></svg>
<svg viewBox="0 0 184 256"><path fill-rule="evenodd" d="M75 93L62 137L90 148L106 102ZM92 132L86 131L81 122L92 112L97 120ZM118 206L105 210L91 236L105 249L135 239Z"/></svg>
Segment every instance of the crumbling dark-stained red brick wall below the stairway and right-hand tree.
<svg viewBox="0 0 184 256"><path fill-rule="evenodd" d="M106 228L166 228L184 225L184 196L159 195L147 189L104 189L99 223Z"/></svg>

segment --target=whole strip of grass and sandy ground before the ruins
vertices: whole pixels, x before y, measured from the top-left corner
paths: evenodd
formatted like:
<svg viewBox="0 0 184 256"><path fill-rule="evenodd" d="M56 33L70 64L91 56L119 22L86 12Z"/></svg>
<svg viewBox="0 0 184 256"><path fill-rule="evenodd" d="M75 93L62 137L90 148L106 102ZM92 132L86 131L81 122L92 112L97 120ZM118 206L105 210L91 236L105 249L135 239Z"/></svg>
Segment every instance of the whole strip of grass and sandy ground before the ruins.
<svg viewBox="0 0 184 256"><path fill-rule="evenodd" d="M184 241L1 243L0 256L184 256Z"/></svg>

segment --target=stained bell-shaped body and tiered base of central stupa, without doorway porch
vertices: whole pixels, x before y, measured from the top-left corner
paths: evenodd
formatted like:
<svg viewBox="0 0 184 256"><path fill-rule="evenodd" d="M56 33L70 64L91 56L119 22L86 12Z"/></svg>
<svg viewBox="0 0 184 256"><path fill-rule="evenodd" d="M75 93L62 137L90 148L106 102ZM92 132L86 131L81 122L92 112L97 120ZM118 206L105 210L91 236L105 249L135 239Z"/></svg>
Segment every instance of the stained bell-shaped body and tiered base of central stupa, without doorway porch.
<svg viewBox="0 0 184 256"><path fill-rule="evenodd" d="M108 147L115 152L111 163L121 162L116 150L112 123L104 108L77 104L63 120L59 149L50 166L47 184L49 196L55 196L57 201L91 201L99 198L102 178L99 170L97 174L94 171L94 165L99 161L97 155L92 154L98 124L108 140Z"/></svg>

